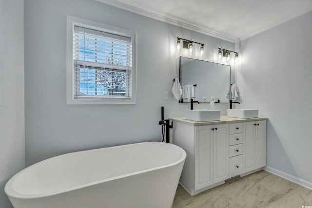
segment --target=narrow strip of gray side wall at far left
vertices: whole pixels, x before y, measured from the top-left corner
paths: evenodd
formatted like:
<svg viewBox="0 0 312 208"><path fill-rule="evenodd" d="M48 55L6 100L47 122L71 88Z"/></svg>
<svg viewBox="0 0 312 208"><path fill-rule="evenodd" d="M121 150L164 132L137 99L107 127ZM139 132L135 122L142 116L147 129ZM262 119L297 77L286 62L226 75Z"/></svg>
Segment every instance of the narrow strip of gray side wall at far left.
<svg viewBox="0 0 312 208"><path fill-rule="evenodd" d="M0 0L0 208L6 182L24 168L23 0Z"/></svg>

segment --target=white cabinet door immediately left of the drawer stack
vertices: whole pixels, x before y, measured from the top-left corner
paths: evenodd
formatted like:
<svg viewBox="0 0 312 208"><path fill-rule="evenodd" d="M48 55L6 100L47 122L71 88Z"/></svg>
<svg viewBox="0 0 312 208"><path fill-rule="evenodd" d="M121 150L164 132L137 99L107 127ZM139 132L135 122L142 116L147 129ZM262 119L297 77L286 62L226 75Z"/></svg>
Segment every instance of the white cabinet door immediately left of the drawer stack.
<svg viewBox="0 0 312 208"><path fill-rule="evenodd" d="M229 124L214 125L214 183L229 178Z"/></svg>

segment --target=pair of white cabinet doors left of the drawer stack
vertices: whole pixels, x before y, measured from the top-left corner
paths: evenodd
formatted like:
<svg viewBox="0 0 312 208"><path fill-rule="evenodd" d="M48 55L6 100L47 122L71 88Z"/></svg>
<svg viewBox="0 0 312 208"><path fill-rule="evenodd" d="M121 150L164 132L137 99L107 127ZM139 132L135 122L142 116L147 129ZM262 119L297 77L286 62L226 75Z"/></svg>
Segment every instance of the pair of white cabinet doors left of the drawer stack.
<svg viewBox="0 0 312 208"><path fill-rule="evenodd" d="M195 126L194 190L228 178L229 125Z"/></svg>

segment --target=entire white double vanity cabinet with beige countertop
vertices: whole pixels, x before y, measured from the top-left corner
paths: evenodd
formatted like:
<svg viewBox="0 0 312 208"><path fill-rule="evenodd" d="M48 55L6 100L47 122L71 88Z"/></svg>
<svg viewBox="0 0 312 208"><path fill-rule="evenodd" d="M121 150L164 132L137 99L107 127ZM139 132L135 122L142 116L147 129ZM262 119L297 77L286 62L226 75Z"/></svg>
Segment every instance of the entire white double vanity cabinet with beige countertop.
<svg viewBox="0 0 312 208"><path fill-rule="evenodd" d="M191 194L266 165L266 119L221 115L220 121L174 121L172 143L186 151L180 184Z"/></svg>

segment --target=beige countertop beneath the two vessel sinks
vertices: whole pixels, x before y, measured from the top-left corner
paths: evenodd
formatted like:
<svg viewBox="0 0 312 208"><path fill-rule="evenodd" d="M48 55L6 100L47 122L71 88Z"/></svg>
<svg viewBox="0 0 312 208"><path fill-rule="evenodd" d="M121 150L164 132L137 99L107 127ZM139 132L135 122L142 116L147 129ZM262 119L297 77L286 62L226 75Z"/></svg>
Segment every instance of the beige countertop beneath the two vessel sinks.
<svg viewBox="0 0 312 208"><path fill-rule="evenodd" d="M192 120L185 119L185 117L174 117L174 118L169 118L169 119L172 121L191 124L194 126L203 126L203 125L211 125L211 124L237 123L237 122L244 122L244 121L259 121L259 120L267 120L268 118L267 117L234 118L234 117L228 117L227 115L221 115L219 121L192 121Z"/></svg>

